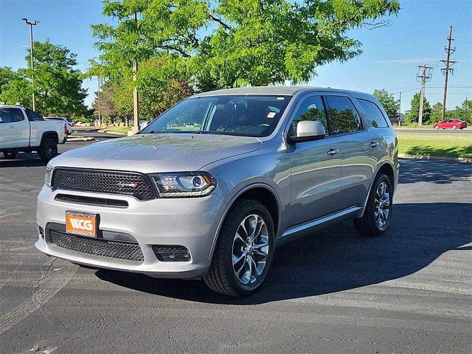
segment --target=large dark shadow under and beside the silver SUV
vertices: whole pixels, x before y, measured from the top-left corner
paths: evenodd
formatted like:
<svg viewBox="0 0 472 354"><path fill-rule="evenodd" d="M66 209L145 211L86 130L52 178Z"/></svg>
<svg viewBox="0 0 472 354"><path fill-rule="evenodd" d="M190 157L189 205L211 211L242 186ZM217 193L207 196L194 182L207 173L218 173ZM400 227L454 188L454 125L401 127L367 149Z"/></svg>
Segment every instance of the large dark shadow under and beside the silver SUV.
<svg viewBox="0 0 472 354"><path fill-rule="evenodd" d="M470 249L465 245L471 241L471 212L472 204L465 203L396 204L382 236L360 236L352 222L330 227L278 248L264 286L245 298L216 294L203 281L105 269L95 274L137 291L212 304L255 305L328 294L399 279L446 251Z"/></svg>

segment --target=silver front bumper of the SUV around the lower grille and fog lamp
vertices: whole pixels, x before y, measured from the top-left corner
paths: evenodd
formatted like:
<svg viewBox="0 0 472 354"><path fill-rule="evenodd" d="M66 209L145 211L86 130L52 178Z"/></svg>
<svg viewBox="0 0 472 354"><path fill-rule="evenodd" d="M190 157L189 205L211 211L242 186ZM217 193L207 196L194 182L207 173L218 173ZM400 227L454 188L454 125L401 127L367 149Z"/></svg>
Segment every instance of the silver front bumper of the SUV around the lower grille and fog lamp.
<svg viewBox="0 0 472 354"><path fill-rule="evenodd" d="M77 191L52 191L43 186L37 200L37 224L47 231L49 225L65 225L66 211L100 215L98 228L111 233L131 235L144 255L143 262L130 262L90 255L58 247L51 239L39 235L35 246L49 256L74 263L143 273L154 277L192 278L204 275L212 256L212 245L226 204L215 193L202 198L153 199L140 201L116 195L126 200L127 208L84 205L55 199L58 193L110 198L110 195ZM104 233L105 234L105 233ZM186 247L191 261L163 262L154 254L152 245Z"/></svg>

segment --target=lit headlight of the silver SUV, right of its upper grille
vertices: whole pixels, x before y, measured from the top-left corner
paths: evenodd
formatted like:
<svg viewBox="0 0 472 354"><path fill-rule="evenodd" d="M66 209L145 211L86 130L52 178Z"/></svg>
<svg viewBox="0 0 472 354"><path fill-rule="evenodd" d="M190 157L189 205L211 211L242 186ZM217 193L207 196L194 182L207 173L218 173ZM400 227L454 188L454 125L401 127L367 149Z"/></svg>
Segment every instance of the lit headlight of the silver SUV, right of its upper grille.
<svg viewBox="0 0 472 354"><path fill-rule="evenodd" d="M217 185L208 172L155 173L151 178L160 198L202 197L210 194Z"/></svg>

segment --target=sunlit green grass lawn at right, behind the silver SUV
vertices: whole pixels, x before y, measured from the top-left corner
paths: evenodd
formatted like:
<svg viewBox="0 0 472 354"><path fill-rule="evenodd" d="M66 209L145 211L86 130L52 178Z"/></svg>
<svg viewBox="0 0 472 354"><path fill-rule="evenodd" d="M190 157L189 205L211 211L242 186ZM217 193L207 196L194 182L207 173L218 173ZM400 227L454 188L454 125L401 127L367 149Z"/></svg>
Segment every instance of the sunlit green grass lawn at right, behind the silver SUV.
<svg viewBox="0 0 472 354"><path fill-rule="evenodd" d="M396 131L400 154L472 158L472 135Z"/></svg>

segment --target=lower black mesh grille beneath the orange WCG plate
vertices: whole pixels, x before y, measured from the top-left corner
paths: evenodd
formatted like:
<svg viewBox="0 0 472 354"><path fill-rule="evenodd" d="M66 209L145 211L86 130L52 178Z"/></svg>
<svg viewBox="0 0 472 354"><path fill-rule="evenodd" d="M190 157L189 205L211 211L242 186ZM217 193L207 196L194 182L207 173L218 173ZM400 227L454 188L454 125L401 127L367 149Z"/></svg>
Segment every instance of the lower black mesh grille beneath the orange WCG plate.
<svg viewBox="0 0 472 354"><path fill-rule="evenodd" d="M100 257L144 261L141 247L137 243L76 236L57 230L49 230L49 234L51 242L56 246L72 251Z"/></svg>

